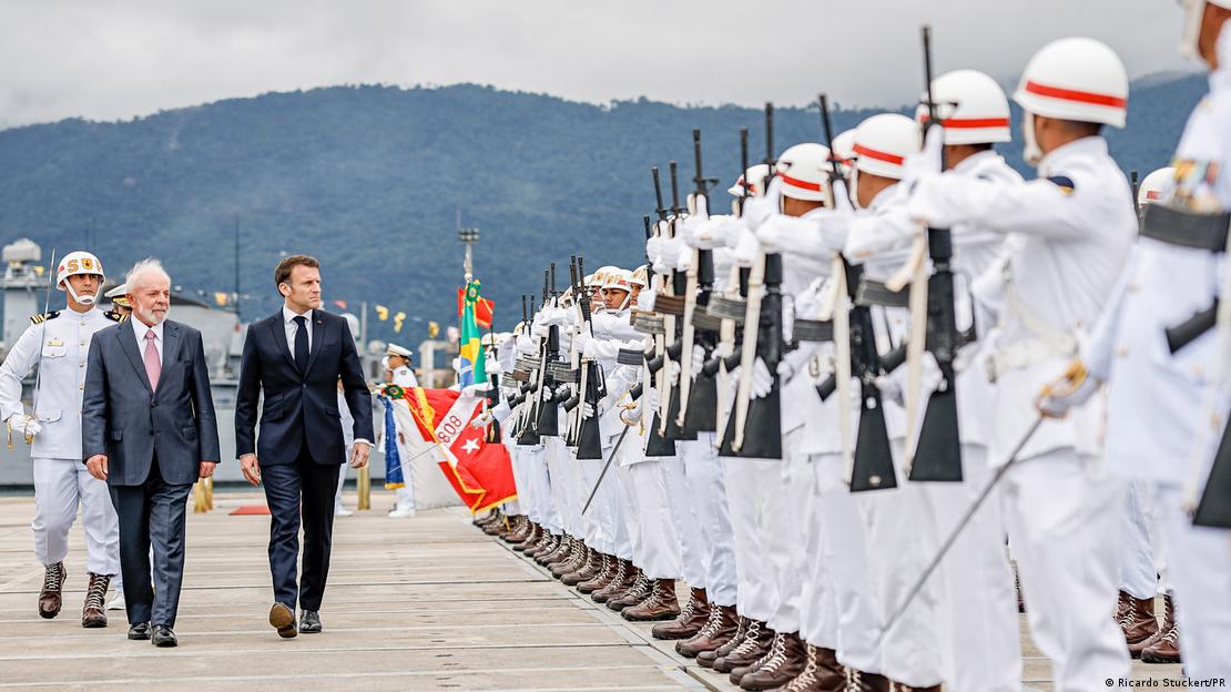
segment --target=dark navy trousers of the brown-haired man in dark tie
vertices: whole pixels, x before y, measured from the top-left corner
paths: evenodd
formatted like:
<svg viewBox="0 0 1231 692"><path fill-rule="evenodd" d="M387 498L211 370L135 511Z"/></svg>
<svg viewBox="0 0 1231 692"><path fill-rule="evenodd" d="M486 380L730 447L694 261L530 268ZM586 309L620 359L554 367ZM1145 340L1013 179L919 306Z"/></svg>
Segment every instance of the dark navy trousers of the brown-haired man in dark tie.
<svg viewBox="0 0 1231 692"><path fill-rule="evenodd" d="M334 495L337 464L311 461L307 442L293 464L261 467L265 499L270 504L270 573L273 600L292 612L295 601L305 611L319 611L329 579L329 553L334 542ZM299 558L299 523L304 528L303 579L295 586Z"/></svg>

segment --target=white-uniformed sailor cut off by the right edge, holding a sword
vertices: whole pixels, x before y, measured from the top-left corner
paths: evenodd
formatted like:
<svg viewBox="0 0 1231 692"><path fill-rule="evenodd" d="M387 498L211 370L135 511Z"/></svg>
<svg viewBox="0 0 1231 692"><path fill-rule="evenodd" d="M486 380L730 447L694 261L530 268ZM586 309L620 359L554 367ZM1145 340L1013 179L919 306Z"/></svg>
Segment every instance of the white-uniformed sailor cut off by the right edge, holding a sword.
<svg viewBox="0 0 1231 692"><path fill-rule="evenodd" d="M1108 309L1080 360L1051 388L1067 395L1051 394L1043 405L1064 415L1107 383L1104 463L1150 488L1174 589L1165 601L1161 637L1141 650L1141 660L1178 662L1182 649L1190 678L1225 681L1231 678L1231 531L1194 526L1190 516L1227 421L1225 319L1187 344L1174 342L1169 330L1194 314L1217 313L1211 305L1229 300L1231 1L1183 5L1183 47L1210 69L1210 92L1181 137L1169 196L1163 191L1147 207Z"/></svg>

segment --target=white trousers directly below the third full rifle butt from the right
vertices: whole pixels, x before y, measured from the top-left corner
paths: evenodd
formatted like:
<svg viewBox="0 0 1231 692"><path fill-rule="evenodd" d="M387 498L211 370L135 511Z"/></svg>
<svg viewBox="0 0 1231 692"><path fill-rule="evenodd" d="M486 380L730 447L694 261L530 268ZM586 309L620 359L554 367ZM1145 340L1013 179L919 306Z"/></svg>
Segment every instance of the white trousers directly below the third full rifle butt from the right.
<svg viewBox="0 0 1231 692"><path fill-rule="evenodd" d="M766 536L761 534L760 511L778 501L778 484L766 479L779 477L779 459L741 459L723 457L726 477L726 506L735 537L736 610L746 618L768 622L778 602L778 582L769 560ZM763 497L768 496L768 501Z"/></svg>

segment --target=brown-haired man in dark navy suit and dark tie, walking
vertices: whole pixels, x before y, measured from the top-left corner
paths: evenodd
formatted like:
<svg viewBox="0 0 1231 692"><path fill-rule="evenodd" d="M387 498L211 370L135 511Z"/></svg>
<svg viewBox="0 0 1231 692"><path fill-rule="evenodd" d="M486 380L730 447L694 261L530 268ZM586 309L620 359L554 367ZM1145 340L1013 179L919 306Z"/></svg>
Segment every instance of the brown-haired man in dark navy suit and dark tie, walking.
<svg viewBox="0 0 1231 692"><path fill-rule="evenodd" d="M265 481L270 504L270 571L273 607L270 624L294 637L321 630L320 602L329 576L334 494L339 464L346 461L337 380L355 419L351 467L363 468L372 447L372 396L346 320L320 310L320 264L308 255L278 262L273 273L283 307L252 323L244 340L235 401L235 446L244 477ZM256 406L261 393L260 436ZM304 527L303 576L295 585L299 523Z"/></svg>

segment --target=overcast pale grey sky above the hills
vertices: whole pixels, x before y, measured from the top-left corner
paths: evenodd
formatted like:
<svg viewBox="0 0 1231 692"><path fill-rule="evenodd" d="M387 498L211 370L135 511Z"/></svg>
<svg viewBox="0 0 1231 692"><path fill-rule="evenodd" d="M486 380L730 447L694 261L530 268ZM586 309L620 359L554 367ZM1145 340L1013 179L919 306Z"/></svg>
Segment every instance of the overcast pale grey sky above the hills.
<svg viewBox="0 0 1231 692"><path fill-rule="evenodd" d="M265 91L457 82L604 103L896 106L938 71L1016 81L1050 39L1192 69L1174 0L0 0L0 127Z"/></svg>

